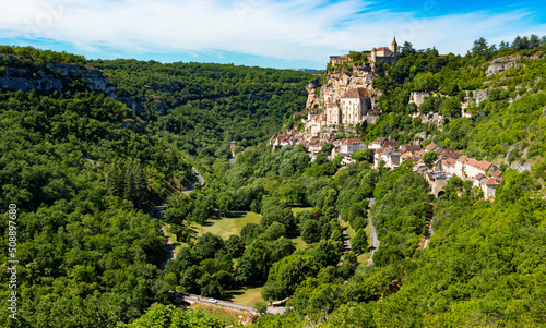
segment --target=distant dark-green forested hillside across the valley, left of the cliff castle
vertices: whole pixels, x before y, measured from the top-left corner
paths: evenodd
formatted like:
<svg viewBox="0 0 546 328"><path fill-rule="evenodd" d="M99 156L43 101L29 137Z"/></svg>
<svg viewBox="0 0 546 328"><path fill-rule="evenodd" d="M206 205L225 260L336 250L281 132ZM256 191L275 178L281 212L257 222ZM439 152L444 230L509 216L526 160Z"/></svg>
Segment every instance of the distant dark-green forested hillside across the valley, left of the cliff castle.
<svg viewBox="0 0 546 328"><path fill-rule="evenodd" d="M150 133L200 158L228 158L232 141L245 148L269 139L305 106L304 86L312 77L226 64L88 62L110 76L118 97L138 104Z"/></svg>

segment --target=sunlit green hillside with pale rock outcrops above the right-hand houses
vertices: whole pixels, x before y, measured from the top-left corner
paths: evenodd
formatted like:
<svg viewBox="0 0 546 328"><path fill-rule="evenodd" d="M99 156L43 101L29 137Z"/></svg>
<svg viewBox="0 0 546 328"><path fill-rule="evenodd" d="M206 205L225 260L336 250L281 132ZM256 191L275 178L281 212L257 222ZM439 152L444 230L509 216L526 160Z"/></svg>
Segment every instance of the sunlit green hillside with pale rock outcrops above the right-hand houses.
<svg viewBox="0 0 546 328"><path fill-rule="evenodd" d="M384 116L367 126L365 138L428 139L507 165L541 159L544 47L487 56L406 54L387 68L389 76L375 82L385 94L379 101ZM431 120L434 114L440 119Z"/></svg>

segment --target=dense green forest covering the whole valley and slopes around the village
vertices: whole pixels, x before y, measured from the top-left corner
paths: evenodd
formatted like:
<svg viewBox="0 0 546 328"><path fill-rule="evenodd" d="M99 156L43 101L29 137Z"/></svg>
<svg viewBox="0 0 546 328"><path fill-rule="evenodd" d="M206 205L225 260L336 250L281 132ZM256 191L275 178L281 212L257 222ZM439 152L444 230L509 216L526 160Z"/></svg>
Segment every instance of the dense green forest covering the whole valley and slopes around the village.
<svg viewBox="0 0 546 328"><path fill-rule="evenodd" d="M411 162L375 169L363 153L342 167L327 159L331 144L313 161L302 145L273 150L266 141L305 108L307 73L1 47L17 59L5 68L92 65L117 92L111 98L81 83L51 94L0 90L0 244L8 263L16 204L19 259L17 320L4 306L1 325L224 327L233 321L180 308L173 292L228 299L245 288L263 300L288 297L292 308L260 316L256 327L546 325L544 50L534 36L499 49L478 39L464 57L405 44L396 63L378 64L383 116L360 126L360 137L408 143L425 132L424 144L476 158L510 153L490 202L456 178L435 199ZM485 63L513 54L536 58L487 76ZM485 89L488 98L462 117L467 92ZM436 96L417 108L412 92ZM442 126L412 119L417 110L442 113ZM523 154L531 171L509 169ZM180 193L192 166L206 185ZM151 211L163 202L161 222ZM259 221L225 238L195 232L241 212ZM381 242L373 265L368 218ZM161 224L180 242L164 271Z"/></svg>

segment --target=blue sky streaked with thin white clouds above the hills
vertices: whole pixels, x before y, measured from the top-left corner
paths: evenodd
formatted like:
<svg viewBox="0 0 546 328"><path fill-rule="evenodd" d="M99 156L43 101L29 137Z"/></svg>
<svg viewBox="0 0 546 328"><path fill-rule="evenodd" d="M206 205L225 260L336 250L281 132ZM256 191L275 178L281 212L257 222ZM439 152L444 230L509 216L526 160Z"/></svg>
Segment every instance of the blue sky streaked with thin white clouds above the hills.
<svg viewBox="0 0 546 328"><path fill-rule="evenodd" d="M464 54L473 41L546 35L546 1L0 0L0 45L88 59L325 69L329 57L410 41Z"/></svg>

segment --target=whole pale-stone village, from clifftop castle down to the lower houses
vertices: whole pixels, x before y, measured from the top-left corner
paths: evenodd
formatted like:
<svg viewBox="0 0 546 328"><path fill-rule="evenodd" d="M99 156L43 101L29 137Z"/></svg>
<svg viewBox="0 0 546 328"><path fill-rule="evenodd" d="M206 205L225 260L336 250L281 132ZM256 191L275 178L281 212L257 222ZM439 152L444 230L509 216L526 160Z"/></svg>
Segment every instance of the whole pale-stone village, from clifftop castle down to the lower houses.
<svg viewBox="0 0 546 328"><path fill-rule="evenodd" d="M356 162L353 157L355 153L371 149L373 167L381 166L395 169L406 160L413 161L416 173L423 174L429 182L435 197L439 197L442 187L452 177L459 177L463 181L472 181L484 193L485 199L495 197L495 191L500 185L502 172L488 161L478 161L450 148L441 148L434 143L412 145L399 145L396 141L378 137L370 144L366 144L358 135L357 124L373 124L380 118L378 97L380 90L373 88L376 77L373 66L377 62L392 63L396 61L397 44L394 38L391 48L373 48L366 57L367 64L353 66L349 73L336 73L335 68L351 63L353 51L348 56L330 57L330 65L334 69L330 72L325 82L320 86L317 95L317 82L311 82L307 87L308 101L304 113L295 113L300 117L302 129L292 130L273 136L270 144L273 148L282 146L304 145L311 160L323 150L323 146L331 144L332 150L328 155L329 160L337 156L341 166ZM423 95L412 95L411 102L423 102ZM464 111L464 109L463 109ZM463 113L464 114L464 113ZM435 114L437 116L437 114ZM441 117L428 118L430 122L440 124ZM346 137L346 135L349 137ZM330 147L329 147L330 148ZM434 151L436 156L427 156L432 161L424 160L425 154Z"/></svg>

